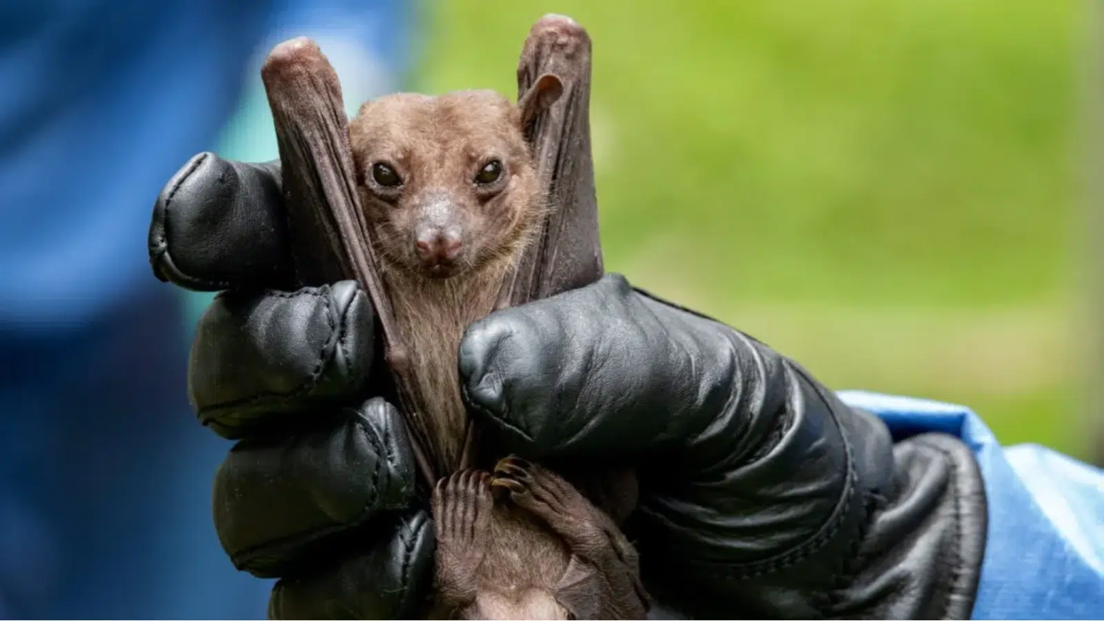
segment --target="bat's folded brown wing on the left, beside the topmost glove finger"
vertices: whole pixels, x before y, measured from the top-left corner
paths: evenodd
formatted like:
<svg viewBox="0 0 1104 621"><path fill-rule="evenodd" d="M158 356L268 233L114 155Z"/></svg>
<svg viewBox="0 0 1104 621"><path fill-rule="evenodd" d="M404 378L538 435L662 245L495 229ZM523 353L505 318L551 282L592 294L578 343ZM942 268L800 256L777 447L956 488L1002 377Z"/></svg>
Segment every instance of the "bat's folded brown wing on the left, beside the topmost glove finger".
<svg viewBox="0 0 1104 621"><path fill-rule="evenodd" d="M261 77L276 127L297 284L360 282L380 323L399 403L410 411L408 369L402 364L405 348L360 207L337 71L314 41L298 38L273 49ZM422 449L425 441L412 440L418 467L432 484L435 478Z"/></svg>

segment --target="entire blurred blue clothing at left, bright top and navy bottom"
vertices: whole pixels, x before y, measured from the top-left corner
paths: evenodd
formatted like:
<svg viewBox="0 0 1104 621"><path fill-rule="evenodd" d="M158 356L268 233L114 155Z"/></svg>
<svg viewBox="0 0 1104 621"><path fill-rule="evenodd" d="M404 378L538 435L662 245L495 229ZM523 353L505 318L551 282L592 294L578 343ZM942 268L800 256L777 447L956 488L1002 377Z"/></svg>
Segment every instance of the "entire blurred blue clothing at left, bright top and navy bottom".
<svg viewBox="0 0 1104 621"><path fill-rule="evenodd" d="M408 18L401 0L0 2L0 618L265 617L272 582L214 533L231 444L187 401L190 322L150 272L149 217L275 39L343 41L355 94L358 67L405 69ZM245 98L236 118L270 133Z"/></svg>

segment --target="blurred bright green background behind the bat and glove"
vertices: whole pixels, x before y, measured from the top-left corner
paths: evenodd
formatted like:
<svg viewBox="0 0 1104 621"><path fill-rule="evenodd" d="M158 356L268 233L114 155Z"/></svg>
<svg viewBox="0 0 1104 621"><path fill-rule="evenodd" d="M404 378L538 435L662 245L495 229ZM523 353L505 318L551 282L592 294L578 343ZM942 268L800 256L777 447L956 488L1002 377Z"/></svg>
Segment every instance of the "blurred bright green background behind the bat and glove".
<svg viewBox="0 0 1104 621"><path fill-rule="evenodd" d="M608 270L832 388L965 403L1006 443L1085 455L1081 4L428 7L429 93L513 94L545 12L590 31Z"/></svg>

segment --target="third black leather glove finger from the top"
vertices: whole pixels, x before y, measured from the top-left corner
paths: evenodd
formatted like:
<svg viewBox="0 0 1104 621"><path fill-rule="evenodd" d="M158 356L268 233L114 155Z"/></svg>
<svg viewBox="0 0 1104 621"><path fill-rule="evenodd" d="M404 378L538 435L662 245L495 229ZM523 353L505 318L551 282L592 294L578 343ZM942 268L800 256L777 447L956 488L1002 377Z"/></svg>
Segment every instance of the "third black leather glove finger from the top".
<svg viewBox="0 0 1104 621"><path fill-rule="evenodd" d="M215 530L238 569L284 576L327 539L407 507L413 494L402 417L374 398L332 425L238 442L215 475Z"/></svg>

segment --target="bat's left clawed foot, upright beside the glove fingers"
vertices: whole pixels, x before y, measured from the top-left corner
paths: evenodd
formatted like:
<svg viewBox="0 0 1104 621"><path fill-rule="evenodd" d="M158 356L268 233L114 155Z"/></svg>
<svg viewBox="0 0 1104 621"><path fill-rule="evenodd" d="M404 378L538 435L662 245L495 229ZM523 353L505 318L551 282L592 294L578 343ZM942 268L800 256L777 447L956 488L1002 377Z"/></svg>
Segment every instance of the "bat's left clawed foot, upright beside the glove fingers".
<svg viewBox="0 0 1104 621"><path fill-rule="evenodd" d="M437 588L453 606L476 597L476 571L487 554L495 498L490 474L465 470L442 478L433 491L437 529Z"/></svg>

